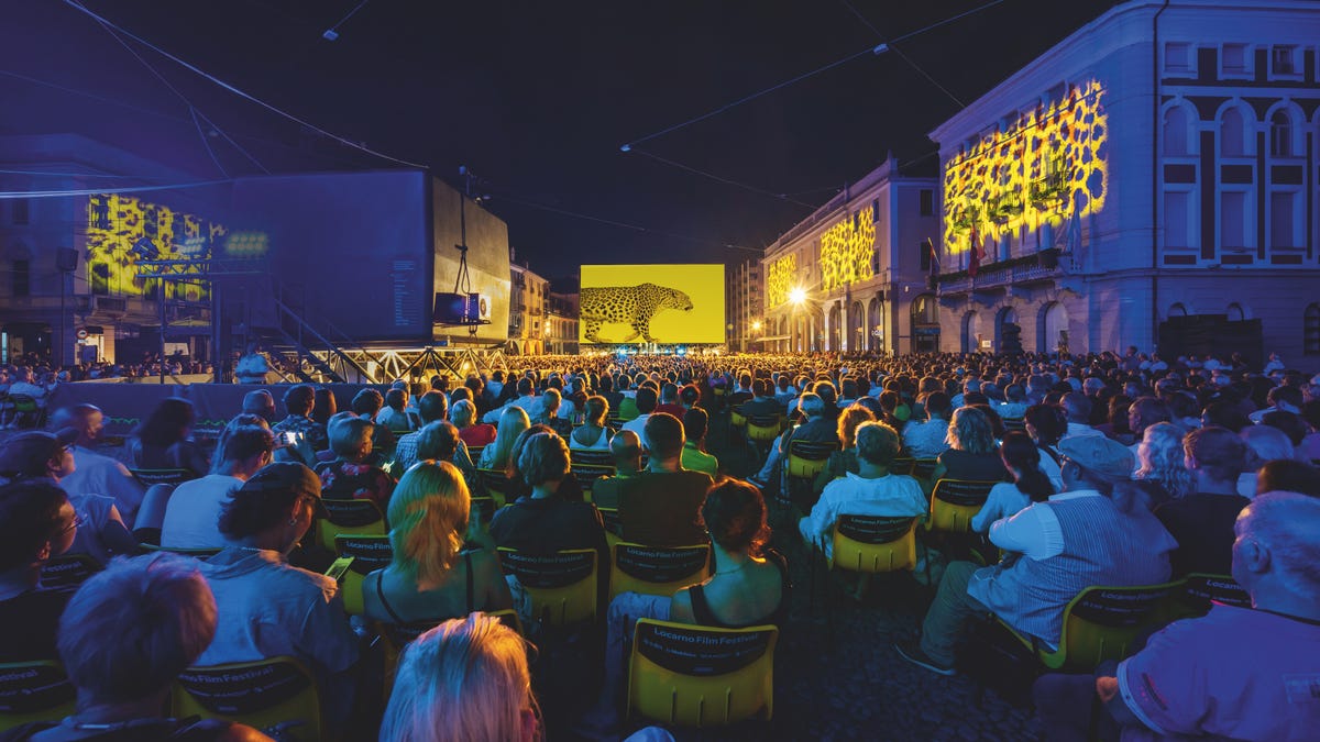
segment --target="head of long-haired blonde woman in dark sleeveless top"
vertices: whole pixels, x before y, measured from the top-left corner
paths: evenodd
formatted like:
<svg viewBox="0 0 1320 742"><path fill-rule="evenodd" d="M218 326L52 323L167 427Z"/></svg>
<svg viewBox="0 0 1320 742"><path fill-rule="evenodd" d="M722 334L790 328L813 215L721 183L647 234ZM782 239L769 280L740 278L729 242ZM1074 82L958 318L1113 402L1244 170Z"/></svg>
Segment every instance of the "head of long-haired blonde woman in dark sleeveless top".
<svg viewBox="0 0 1320 742"><path fill-rule="evenodd" d="M412 465L389 496L392 564L417 582L438 588L458 564L471 496L463 475L447 461Z"/></svg>

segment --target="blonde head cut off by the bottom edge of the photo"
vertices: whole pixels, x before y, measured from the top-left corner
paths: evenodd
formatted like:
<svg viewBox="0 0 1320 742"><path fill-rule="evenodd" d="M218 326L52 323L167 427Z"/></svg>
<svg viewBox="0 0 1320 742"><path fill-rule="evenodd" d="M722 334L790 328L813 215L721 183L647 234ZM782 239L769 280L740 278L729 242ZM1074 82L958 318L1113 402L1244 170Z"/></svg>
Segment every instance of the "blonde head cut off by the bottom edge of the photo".
<svg viewBox="0 0 1320 742"><path fill-rule="evenodd" d="M523 638L474 613L426 631L404 651L380 738L529 742L537 713Z"/></svg>

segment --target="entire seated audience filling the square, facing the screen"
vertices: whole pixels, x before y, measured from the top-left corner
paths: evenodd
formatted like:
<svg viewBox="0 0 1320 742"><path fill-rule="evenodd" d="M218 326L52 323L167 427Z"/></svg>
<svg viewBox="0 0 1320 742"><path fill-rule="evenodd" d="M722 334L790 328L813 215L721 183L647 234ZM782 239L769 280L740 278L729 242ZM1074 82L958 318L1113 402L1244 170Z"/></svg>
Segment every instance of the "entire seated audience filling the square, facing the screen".
<svg viewBox="0 0 1320 742"><path fill-rule="evenodd" d="M33 383L17 374L11 391ZM125 412L143 422L108 452L104 416ZM929 519L941 482L983 487L964 532L921 539L911 570L933 601L920 636L886 651L952 675L987 619L1063 651L1082 590L1212 576L1250 605L1044 675L1043 734L1320 729L1320 374L1276 356L529 356L364 387L345 411L329 389L271 387L235 413L214 449L173 397L51 411L53 432L0 446L0 663L59 660L77 689L71 716L0 738L279 737L160 712L185 668L288 656L314 679L326 738L665 739L623 718L639 619L784 627L772 537L830 555L841 519ZM804 452L807 477L789 466ZM351 614L317 535L346 500L379 512L389 547ZM612 594L620 540L708 545L710 565L676 591ZM581 623L540 613L502 568L572 549L598 574ZM102 570L45 586L70 555Z"/></svg>

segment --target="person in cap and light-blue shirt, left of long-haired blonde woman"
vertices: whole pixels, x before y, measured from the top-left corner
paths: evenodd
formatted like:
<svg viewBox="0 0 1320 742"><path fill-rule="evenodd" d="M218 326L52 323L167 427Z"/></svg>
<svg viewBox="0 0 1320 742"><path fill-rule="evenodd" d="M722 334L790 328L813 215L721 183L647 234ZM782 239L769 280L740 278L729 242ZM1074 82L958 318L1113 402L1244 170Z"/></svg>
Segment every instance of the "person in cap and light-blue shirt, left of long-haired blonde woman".
<svg viewBox="0 0 1320 742"><path fill-rule="evenodd" d="M352 709L358 640L334 580L289 565L322 510L321 479L301 463L263 467L220 511L228 547L202 562L219 628L198 665L288 655L317 677L330 729Z"/></svg>

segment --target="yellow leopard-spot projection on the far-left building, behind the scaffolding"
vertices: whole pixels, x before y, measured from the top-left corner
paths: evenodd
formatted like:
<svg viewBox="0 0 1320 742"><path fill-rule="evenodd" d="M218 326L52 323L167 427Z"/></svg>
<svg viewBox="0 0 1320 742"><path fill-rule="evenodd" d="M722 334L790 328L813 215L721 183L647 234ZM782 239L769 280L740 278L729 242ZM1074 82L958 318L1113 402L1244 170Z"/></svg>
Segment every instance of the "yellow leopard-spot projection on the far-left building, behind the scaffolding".
<svg viewBox="0 0 1320 742"><path fill-rule="evenodd" d="M152 296L156 281L137 277L139 260L197 260L226 234L223 224L127 195L87 198L87 283L92 293ZM185 269L183 273L193 272ZM206 298L209 290L166 281L168 298Z"/></svg>

